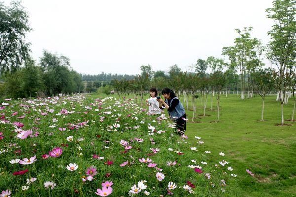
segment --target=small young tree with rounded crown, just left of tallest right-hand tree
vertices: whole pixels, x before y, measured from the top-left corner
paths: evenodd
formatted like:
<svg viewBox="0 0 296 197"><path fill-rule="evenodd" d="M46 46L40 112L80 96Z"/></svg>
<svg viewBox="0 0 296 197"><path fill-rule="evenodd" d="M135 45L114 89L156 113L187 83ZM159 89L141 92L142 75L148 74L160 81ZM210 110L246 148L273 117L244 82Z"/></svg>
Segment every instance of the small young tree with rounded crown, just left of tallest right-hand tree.
<svg viewBox="0 0 296 197"><path fill-rule="evenodd" d="M252 78L254 80L255 89L262 98L262 114L261 121L264 120L264 100L265 95L268 94L274 88L274 80L272 77L273 70L270 68L259 69L258 71L252 73Z"/></svg>

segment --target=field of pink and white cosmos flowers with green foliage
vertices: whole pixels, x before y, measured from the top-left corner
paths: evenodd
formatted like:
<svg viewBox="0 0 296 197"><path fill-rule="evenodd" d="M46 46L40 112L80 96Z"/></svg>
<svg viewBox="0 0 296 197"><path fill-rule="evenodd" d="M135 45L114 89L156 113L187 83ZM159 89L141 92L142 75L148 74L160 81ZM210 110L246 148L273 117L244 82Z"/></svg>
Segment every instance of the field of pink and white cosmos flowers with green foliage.
<svg viewBox="0 0 296 197"><path fill-rule="evenodd" d="M6 99L0 113L0 197L209 197L238 182L223 150L132 99Z"/></svg>

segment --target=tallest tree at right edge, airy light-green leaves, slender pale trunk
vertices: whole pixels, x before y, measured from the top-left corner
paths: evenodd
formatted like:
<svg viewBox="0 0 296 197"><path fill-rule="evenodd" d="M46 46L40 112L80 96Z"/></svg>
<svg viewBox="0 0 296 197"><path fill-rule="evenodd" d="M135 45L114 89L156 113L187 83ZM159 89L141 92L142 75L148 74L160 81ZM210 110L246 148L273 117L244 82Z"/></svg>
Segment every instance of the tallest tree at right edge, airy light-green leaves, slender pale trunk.
<svg viewBox="0 0 296 197"><path fill-rule="evenodd" d="M284 124L284 102L295 67L296 56L296 1L274 0L273 7L266 9L267 18L274 21L268 32L267 58L277 66L274 74L275 84L281 103L281 124ZM295 70L294 70L295 71Z"/></svg>

